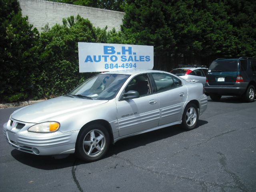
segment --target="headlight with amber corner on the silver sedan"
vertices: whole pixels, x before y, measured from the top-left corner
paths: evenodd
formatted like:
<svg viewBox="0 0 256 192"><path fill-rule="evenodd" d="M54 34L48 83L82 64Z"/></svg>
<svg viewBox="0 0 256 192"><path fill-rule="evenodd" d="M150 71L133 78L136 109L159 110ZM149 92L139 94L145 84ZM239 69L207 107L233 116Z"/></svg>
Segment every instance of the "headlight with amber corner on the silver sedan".
<svg viewBox="0 0 256 192"><path fill-rule="evenodd" d="M52 133L60 128L60 123L58 122L44 122L31 126L28 128L29 132L35 133Z"/></svg>

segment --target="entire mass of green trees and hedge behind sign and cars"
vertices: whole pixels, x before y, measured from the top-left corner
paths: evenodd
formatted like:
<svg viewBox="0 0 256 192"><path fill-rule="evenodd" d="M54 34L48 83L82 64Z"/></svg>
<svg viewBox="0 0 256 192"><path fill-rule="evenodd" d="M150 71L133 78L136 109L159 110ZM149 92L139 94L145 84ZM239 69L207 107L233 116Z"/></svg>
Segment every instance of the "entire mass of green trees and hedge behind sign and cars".
<svg viewBox="0 0 256 192"><path fill-rule="evenodd" d="M124 2L124 1L120 1ZM79 15L44 27L22 17L17 0L0 1L0 102L66 94L92 73L79 73L78 42L154 46L154 68L208 65L223 57L256 57L253 0L126 0L122 30L95 28Z"/></svg>

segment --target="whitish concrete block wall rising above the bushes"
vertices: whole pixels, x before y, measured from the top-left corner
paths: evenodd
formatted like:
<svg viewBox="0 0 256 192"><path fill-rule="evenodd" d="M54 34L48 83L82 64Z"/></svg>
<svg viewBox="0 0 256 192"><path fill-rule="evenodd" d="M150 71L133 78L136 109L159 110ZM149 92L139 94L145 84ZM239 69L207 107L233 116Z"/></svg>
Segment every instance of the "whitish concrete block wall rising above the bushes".
<svg viewBox="0 0 256 192"><path fill-rule="evenodd" d="M85 7L72 4L64 4L45 0L19 0L22 16L28 16L28 22L33 24L38 31L42 31L47 23L50 27L54 24L62 24L62 18L78 14L83 18L88 18L95 27L107 30L120 30L124 12Z"/></svg>

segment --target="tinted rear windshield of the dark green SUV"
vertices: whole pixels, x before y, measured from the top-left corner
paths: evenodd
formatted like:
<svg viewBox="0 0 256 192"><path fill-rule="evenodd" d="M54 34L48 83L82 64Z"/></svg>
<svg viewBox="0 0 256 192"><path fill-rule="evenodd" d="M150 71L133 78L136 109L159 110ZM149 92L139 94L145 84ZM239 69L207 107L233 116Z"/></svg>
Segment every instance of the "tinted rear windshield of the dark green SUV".
<svg viewBox="0 0 256 192"><path fill-rule="evenodd" d="M209 70L226 72L237 71L237 63L237 60L216 60L212 62L212 64L209 67Z"/></svg>

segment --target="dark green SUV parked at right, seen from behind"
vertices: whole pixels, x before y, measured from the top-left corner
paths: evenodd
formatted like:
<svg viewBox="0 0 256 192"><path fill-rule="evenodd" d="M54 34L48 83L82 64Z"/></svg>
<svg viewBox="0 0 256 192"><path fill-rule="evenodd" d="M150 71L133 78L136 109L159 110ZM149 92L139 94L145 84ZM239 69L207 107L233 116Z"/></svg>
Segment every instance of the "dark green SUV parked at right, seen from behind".
<svg viewBox="0 0 256 192"><path fill-rule="evenodd" d="M256 58L216 59L210 64L205 91L214 101L222 95L242 96L246 102L255 98Z"/></svg>

